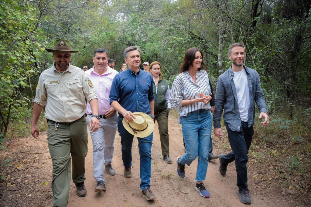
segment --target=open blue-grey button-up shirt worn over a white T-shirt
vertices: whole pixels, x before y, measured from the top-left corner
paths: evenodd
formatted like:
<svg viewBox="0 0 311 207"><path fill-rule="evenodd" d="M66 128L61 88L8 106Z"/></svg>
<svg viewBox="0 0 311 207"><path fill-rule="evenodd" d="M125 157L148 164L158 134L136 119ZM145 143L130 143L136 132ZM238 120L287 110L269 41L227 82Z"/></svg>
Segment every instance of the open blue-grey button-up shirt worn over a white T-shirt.
<svg viewBox="0 0 311 207"><path fill-rule="evenodd" d="M215 110L213 114L214 127L220 128L220 119L224 110L224 121L232 131L240 131L241 117L238 96L233 81L232 65L221 74L217 81ZM255 102L260 112L268 114L265 96L261 89L259 74L256 70L244 66L247 74L250 104L248 108L248 128L255 123Z"/></svg>

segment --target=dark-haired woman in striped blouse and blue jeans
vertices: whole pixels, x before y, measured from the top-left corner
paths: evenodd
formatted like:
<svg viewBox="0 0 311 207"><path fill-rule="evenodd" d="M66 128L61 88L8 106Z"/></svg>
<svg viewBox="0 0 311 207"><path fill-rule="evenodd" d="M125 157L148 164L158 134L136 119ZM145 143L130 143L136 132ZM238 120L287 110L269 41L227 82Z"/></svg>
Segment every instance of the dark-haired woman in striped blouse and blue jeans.
<svg viewBox="0 0 311 207"><path fill-rule="evenodd" d="M179 75L175 78L169 98L173 108L178 110L178 123L182 125L186 154L177 157L177 174L185 177L185 165L198 157L196 190L208 198L203 181L206 178L208 149L211 139L212 118L210 112L211 88L208 83L202 51L196 47L187 50Z"/></svg>

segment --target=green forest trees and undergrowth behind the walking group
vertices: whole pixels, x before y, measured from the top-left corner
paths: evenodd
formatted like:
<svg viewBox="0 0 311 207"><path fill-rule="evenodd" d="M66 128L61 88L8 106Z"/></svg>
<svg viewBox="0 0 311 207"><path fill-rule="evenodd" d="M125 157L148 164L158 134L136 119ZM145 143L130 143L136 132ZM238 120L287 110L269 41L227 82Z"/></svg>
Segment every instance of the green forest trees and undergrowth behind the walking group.
<svg viewBox="0 0 311 207"><path fill-rule="evenodd" d="M80 50L72 54L80 68L92 67L95 49L105 48L119 70L124 49L137 45L142 62L161 63L170 85L186 50L198 47L214 90L230 66L229 45L241 42L245 65L260 74L271 120L255 128L260 150L251 156L275 173L262 179L311 199L310 6L311 0L0 1L1 167L10 165L2 155L12 137L30 134L37 81L53 63L44 48L55 39Z"/></svg>

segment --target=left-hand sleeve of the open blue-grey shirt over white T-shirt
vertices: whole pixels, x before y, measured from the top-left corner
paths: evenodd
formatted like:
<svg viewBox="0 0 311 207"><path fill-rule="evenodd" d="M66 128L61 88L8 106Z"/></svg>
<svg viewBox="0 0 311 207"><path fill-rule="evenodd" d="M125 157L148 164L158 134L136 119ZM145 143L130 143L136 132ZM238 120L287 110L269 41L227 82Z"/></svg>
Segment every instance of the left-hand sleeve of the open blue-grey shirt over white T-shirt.
<svg viewBox="0 0 311 207"><path fill-rule="evenodd" d="M225 87L221 78L218 78L216 86L215 110L213 113L214 128L221 128L220 119L225 103Z"/></svg>

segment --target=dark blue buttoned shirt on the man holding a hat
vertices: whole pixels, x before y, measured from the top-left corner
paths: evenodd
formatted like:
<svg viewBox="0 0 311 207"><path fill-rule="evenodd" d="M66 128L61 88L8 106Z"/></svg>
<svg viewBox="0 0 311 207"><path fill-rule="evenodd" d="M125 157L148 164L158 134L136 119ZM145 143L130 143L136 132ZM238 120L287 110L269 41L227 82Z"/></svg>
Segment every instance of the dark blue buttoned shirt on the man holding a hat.
<svg viewBox="0 0 311 207"><path fill-rule="evenodd" d="M110 103L118 101L127 111L150 113L149 101L155 99L153 95L152 75L139 70L135 75L132 70L125 70L117 74L110 90ZM122 116L122 114L119 113Z"/></svg>

